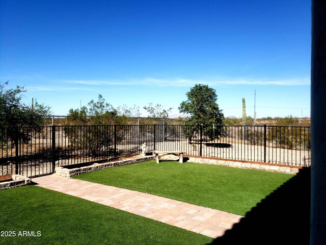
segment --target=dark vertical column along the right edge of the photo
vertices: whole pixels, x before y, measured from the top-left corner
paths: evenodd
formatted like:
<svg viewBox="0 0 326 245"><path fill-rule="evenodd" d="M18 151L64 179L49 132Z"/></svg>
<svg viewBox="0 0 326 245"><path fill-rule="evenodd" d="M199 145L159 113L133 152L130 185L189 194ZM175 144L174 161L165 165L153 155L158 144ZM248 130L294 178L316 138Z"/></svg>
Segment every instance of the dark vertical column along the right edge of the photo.
<svg viewBox="0 0 326 245"><path fill-rule="evenodd" d="M312 0L310 244L326 244L326 1Z"/></svg>

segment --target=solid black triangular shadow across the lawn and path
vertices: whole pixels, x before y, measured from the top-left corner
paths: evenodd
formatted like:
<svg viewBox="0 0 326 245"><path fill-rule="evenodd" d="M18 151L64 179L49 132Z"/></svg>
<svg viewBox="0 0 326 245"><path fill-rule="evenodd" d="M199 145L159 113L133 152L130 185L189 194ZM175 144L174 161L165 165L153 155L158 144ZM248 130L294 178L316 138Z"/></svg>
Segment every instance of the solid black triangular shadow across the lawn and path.
<svg viewBox="0 0 326 245"><path fill-rule="evenodd" d="M210 244L309 244L310 168L301 169Z"/></svg>

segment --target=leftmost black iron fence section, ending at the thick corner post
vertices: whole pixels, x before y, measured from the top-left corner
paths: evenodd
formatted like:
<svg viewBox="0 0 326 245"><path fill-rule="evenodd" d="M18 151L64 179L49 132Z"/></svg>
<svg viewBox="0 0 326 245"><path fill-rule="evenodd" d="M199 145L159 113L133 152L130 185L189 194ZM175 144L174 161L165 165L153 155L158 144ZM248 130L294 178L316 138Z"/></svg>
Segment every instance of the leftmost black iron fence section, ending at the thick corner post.
<svg viewBox="0 0 326 245"><path fill-rule="evenodd" d="M51 127L0 129L0 175L37 176L52 171Z"/></svg>

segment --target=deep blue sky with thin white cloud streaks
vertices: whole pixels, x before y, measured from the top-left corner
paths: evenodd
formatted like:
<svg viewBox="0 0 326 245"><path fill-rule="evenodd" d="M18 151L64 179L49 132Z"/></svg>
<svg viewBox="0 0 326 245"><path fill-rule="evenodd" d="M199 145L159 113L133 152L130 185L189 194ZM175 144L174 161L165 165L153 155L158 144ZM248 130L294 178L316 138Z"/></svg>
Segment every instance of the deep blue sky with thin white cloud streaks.
<svg viewBox="0 0 326 245"><path fill-rule="evenodd" d="M310 116L311 2L0 0L0 81L66 115L178 107L195 84L225 116ZM146 116L146 112L141 109Z"/></svg>

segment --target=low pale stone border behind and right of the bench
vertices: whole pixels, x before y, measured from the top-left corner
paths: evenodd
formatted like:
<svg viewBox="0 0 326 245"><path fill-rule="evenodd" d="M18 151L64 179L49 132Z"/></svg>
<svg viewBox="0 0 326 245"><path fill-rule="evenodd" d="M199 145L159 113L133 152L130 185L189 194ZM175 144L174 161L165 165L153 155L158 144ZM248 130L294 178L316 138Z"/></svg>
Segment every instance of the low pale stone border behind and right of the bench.
<svg viewBox="0 0 326 245"><path fill-rule="evenodd" d="M297 174L298 171L301 168L303 168L301 166L280 165L280 164L272 164L272 163L265 163L265 162L234 161L234 160L216 159L216 158L208 158L208 157L194 157L188 155L184 157L189 158L188 162L255 169L255 170L263 170L263 171L292 174L292 175ZM176 160L175 156L173 155L162 156L161 159Z"/></svg>

